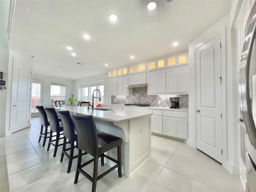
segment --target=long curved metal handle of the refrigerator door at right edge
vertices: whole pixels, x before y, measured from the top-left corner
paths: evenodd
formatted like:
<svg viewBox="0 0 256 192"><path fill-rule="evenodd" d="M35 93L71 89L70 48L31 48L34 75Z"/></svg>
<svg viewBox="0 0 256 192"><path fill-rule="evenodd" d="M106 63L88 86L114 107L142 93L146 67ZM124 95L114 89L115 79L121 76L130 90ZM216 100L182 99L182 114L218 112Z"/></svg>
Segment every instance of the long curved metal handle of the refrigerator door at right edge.
<svg viewBox="0 0 256 192"><path fill-rule="evenodd" d="M255 8L255 6L253 7ZM250 22L248 32L244 41L244 46L240 61L240 71L239 71L239 96L240 96L240 106L242 111L242 116L244 124L246 127L249 140L256 149L256 128L254 124L254 119L252 115L252 105L249 95L249 69L250 69L250 58L252 54L252 46L256 35L256 15L253 16Z"/></svg>

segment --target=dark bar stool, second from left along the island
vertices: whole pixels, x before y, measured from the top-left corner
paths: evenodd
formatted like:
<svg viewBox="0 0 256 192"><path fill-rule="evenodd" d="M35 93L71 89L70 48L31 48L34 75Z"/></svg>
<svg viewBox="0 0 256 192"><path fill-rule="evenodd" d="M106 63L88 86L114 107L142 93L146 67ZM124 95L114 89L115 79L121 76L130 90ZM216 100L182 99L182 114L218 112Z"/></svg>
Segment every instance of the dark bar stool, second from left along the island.
<svg viewBox="0 0 256 192"><path fill-rule="evenodd" d="M62 122L59 122L59 118L55 108L44 108L44 110L50 122L50 138L49 138L47 151L50 149L50 145L52 144L54 146L53 157L55 157L58 146L63 145L63 143L59 144L59 140L64 138L64 137L60 137L61 135L63 135L63 133L61 133L63 131L63 126L62 126ZM53 132L56 132L56 135L52 135ZM55 137L55 139L53 139L53 137Z"/></svg>

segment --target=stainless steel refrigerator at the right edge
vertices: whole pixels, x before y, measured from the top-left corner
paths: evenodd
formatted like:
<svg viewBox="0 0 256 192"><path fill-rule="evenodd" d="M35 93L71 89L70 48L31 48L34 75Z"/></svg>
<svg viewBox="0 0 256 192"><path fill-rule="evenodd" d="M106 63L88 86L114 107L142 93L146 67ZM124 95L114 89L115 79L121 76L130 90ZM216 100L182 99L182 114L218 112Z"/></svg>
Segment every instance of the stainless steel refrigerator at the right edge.
<svg viewBox="0 0 256 192"><path fill-rule="evenodd" d="M246 24L246 36L239 71L239 95L242 117L240 124L246 129L246 190L256 192L256 2Z"/></svg>

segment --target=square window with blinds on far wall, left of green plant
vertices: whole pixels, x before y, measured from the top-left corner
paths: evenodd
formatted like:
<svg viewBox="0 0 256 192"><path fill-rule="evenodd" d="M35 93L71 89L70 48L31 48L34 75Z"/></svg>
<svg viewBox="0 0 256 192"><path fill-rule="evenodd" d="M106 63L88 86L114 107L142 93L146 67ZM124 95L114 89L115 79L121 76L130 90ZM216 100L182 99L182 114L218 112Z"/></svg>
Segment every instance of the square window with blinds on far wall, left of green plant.
<svg viewBox="0 0 256 192"><path fill-rule="evenodd" d="M66 100L66 85L51 84L51 100L52 101L65 101Z"/></svg>

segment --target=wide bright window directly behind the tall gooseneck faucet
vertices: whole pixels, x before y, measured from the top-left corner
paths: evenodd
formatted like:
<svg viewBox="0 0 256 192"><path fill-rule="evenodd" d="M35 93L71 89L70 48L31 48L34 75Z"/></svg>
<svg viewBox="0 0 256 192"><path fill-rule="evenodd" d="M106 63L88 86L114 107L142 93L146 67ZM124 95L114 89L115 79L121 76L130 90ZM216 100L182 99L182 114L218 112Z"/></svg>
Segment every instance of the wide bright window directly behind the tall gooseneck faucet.
<svg viewBox="0 0 256 192"><path fill-rule="evenodd" d="M100 94L98 91L95 91L94 97L100 96L100 99L94 98L94 106L96 106L97 104L104 104L104 84L102 81L82 86L82 101L89 101L92 104L92 92L95 89L100 90Z"/></svg>

